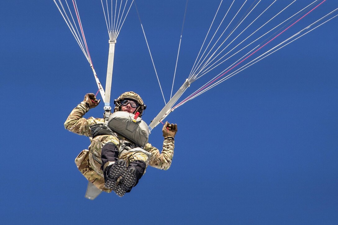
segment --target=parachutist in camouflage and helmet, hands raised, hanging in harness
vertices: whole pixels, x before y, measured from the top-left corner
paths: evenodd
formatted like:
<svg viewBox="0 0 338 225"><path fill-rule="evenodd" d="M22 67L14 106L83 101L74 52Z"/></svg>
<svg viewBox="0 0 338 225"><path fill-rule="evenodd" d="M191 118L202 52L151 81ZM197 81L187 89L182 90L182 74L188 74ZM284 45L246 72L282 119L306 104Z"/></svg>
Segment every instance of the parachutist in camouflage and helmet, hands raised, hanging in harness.
<svg viewBox="0 0 338 225"><path fill-rule="evenodd" d="M138 184L148 165L169 169L177 132L176 124L164 124L160 153L148 143L148 125L141 118L146 105L138 94L125 92L119 96L107 124L104 118L83 118L99 103L94 94L86 94L64 124L66 129L91 140L88 150L83 150L75 159L77 168L89 181L86 197L91 200L101 191L114 191L122 197ZM138 117L135 114L139 114ZM132 118L136 122L131 121Z"/></svg>

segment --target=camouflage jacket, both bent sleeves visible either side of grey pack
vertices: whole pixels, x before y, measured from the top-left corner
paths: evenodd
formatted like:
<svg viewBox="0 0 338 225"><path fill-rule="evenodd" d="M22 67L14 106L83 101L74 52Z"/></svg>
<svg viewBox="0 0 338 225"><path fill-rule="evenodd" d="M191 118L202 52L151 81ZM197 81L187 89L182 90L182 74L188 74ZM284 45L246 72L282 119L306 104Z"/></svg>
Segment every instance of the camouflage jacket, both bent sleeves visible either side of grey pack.
<svg viewBox="0 0 338 225"><path fill-rule="evenodd" d="M87 106L87 104L81 102L72 110L64 125L67 130L72 131L73 133L88 136L90 141L92 142L90 126L97 123L104 123L104 119L94 117L90 117L88 119L83 118L84 114L86 114L88 111L89 107ZM123 137L119 138L123 139ZM169 169L174 154L173 139L169 138L163 141L163 149L161 153L150 143L147 143L143 149L150 153L150 166L162 170Z"/></svg>

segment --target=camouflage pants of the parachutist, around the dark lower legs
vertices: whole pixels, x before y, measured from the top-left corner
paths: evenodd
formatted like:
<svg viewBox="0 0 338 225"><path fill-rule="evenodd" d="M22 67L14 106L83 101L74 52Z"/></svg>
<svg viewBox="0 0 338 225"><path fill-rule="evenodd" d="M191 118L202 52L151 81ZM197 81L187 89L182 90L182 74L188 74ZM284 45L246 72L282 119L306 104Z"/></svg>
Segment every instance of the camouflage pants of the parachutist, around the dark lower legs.
<svg viewBox="0 0 338 225"><path fill-rule="evenodd" d="M126 142L126 141L124 141ZM89 150L83 150L75 159L79 171L84 177L93 183L96 188L111 192L110 189L104 188L103 171L101 170L101 149L106 143L113 143L119 149L119 159L124 159L127 162L127 166L135 160L142 160L146 163L146 167L149 165L148 156L141 151L123 151L120 148L120 140L114 135L100 135L93 138Z"/></svg>

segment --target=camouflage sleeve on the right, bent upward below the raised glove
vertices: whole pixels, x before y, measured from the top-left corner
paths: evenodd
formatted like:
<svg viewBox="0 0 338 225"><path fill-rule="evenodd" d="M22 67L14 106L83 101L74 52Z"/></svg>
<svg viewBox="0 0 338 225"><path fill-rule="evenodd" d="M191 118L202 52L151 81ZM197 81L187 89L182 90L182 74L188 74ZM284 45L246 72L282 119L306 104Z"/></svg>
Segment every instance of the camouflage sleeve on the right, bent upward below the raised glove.
<svg viewBox="0 0 338 225"><path fill-rule="evenodd" d="M151 146L150 143L147 143L144 147L144 150L152 153L152 156L149 159L149 165L161 170L169 169L171 165L171 160L174 155L174 140L167 138L163 141L162 152Z"/></svg>

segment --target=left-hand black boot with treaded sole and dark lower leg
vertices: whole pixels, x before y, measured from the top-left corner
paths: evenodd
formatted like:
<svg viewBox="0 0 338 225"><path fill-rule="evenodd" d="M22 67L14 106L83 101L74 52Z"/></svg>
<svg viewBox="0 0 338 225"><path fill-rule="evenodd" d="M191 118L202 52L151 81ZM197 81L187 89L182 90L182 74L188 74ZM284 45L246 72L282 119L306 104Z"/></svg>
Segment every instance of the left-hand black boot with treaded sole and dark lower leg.
<svg viewBox="0 0 338 225"><path fill-rule="evenodd" d="M102 171L104 176L104 187L114 189L117 180L127 170L127 163L123 159L118 159L119 151L113 143L105 144L101 149Z"/></svg>

